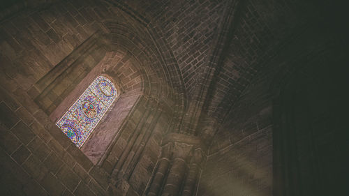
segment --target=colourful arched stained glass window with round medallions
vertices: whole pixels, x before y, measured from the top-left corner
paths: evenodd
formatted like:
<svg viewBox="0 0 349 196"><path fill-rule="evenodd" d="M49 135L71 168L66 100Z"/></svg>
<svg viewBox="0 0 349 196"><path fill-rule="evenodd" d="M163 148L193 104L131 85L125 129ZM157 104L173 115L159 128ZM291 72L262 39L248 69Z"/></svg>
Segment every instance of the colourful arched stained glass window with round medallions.
<svg viewBox="0 0 349 196"><path fill-rule="evenodd" d="M80 148L117 98L117 90L107 77L98 76L56 125Z"/></svg>

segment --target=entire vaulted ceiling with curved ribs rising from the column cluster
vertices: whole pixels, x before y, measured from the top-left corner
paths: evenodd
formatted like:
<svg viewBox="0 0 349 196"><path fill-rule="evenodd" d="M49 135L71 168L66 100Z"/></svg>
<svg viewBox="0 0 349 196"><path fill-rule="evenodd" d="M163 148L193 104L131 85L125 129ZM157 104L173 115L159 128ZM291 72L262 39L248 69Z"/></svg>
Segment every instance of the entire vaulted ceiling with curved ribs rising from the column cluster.
<svg viewBox="0 0 349 196"><path fill-rule="evenodd" d="M16 8L40 10L52 3L55 3L57 14L68 11L73 15L74 10L64 10L71 7L66 1L17 1L20 6ZM101 20L105 31L110 32L112 45L128 47L133 55L139 57L138 63L149 76L149 86L158 85L162 89L151 90L177 97L174 99L179 100L179 121L183 119L183 125L174 131L202 135L203 127L211 126L205 137L212 137L217 130L216 123L229 118L230 107L256 73L268 66L267 61L305 29L307 21L320 15L315 1L300 0L91 0L71 3L82 13L91 11L96 14L91 15L91 21L95 18ZM2 19L6 17L10 14L1 15ZM96 24L92 22L87 33L96 29L94 26ZM30 28L38 33L35 27ZM57 29L60 28L57 23ZM67 48L67 52L70 50ZM29 54L20 52L22 56L31 56ZM32 80L28 84L35 82L58 62L54 59L64 55L52 54L45 70L25 80ZM142 58L142 55L147 58ZM152 77L153 73L157 79Z"/></svg>

